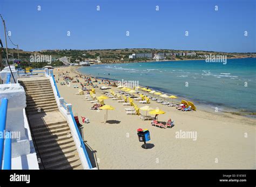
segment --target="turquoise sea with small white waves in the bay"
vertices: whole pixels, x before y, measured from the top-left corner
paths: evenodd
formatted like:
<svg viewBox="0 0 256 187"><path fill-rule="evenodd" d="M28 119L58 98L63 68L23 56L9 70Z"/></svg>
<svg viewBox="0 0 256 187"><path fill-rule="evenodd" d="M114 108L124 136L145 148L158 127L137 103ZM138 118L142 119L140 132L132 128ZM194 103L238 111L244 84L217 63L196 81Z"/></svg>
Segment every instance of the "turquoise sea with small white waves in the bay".
<svg viewBox="0 0 256 187"><path fill-rule="evenodd" d="M240 114L256 112L255 58L227 59L226 64L204 60L101 64L78 71L111 80L139 81L139 85L191 100L213 112L215 107Z"/></svg>

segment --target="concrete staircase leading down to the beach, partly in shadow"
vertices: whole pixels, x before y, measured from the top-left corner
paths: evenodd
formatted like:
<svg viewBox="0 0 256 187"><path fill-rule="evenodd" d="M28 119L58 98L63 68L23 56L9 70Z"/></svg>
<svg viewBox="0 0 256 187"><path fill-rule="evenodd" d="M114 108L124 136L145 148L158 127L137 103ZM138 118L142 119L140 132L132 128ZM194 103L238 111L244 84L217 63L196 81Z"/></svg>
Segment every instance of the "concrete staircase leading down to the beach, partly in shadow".
<svg viewBox="0 0 256 187"><path fill-rule="evenodd" d="M48 78L22 78L26 112L40 169L83 169L68 122L59 112ZM40 109L40 110L38 110Z"/></svg>

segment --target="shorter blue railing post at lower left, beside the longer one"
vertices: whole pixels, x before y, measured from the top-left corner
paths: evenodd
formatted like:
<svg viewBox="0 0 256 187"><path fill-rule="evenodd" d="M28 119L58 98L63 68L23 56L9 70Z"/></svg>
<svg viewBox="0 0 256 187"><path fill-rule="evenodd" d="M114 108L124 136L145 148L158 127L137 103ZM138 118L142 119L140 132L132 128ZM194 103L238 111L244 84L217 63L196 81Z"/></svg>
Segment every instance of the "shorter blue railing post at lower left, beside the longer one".
<svg viewBox="0 0 256 187"><path fill-rule="evenodd" d="M11 169L11 133L9 131L5 133L3 169Z"/></svg>

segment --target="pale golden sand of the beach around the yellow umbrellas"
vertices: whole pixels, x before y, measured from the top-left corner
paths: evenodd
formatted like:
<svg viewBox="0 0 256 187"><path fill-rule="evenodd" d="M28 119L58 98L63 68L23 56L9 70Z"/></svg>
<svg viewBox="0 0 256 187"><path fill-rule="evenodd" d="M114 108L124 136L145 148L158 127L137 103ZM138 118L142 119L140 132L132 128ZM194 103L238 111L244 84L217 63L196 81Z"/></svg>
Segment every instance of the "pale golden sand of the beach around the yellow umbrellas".
<svg viewBox="0 0 256 187"><path fill-rule="evenodd" d="M77 75L77 67L55 68L53 73L58 80L59 73L69 71L69 76ZM84 83L83 78L78 78ZM94 80L94 79L93 79ZM66 103L72 104L74 114L78 114L83 125L86 145L95 150L95 158L99 169L255 169L255 124L256 120L230 113L210 113L206 111L181 112L175 107L168 107L150 101L152 108L159 107L165 111L158 120L166 122L174 120L173 128L159 128L151 125L150 120L143 121L137 115L126 115L122 103L106 99L105 104L114 107L108 112L109 123L104 123L105 110L90 110L93 105L85 99L85 95L76 95L78 88L64 82L59 77L58 90ZM99 87L105 84L99 84ZM86 87L89 88L89 87ZM91 88L91 87L90 87ZM113 91L118 88L111 87ZM85 93L86 94L86 93ZM103 95L96 88L96 95ZM180 102L180 99L176 99ZM135 103L142 107L146 104ZM145 111L140 111L145 114ZM83 124L82 118L89 118L89 124ZM139 142L138 128L147 128L151 134L149 148L142 148ZM176 132L197 132L197 138L177 138ZM93 163L92 163L93 164Z"/></svg>

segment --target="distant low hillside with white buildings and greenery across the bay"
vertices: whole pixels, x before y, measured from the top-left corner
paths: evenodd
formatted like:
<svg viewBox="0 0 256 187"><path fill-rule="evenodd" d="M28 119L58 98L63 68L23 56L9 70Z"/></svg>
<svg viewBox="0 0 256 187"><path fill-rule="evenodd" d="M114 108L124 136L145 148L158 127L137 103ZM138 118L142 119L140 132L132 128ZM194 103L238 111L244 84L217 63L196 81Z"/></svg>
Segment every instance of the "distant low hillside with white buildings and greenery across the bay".
<svg viewBox="0 0 256 187"><path fill-rule="evenodd" d="M212 51L182 51L173 49L46 49L42 51L23 51L8 49L8 59L12 64L17 62L21 68L42 68L45 66L90 66L104 63L129 63L173 60L204 60L207 55L225 55L230 58L256 57L256 53L225 53ZM6 64L2 51L1 68Z"/></svg>

